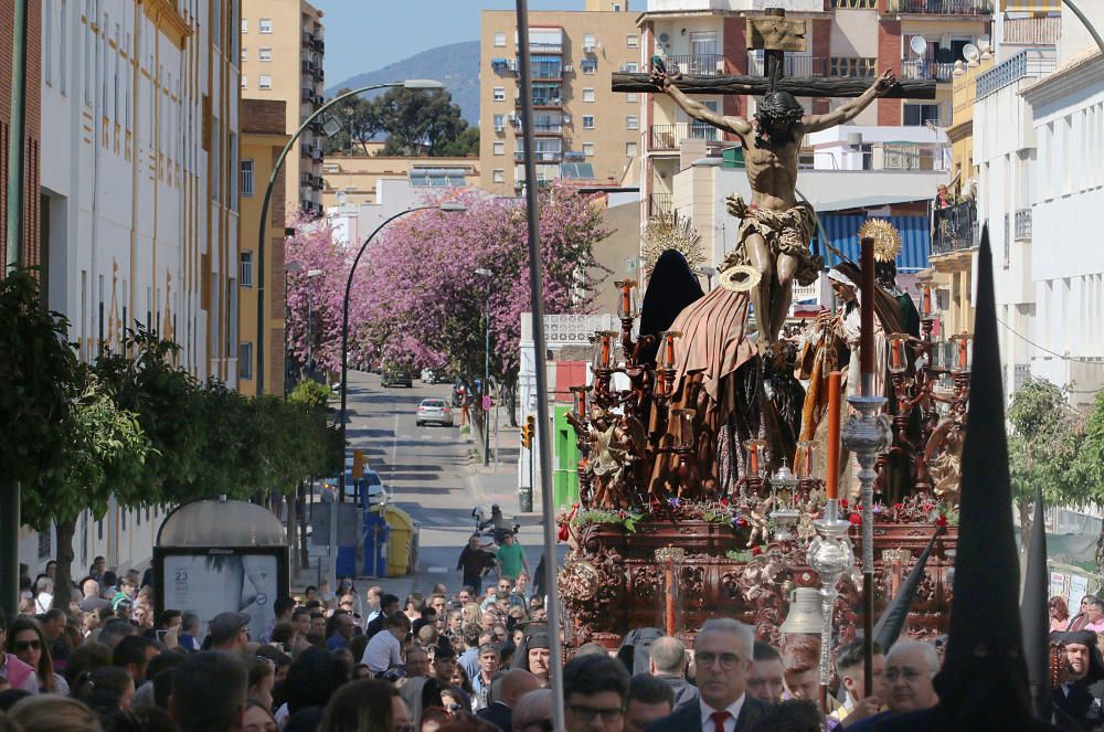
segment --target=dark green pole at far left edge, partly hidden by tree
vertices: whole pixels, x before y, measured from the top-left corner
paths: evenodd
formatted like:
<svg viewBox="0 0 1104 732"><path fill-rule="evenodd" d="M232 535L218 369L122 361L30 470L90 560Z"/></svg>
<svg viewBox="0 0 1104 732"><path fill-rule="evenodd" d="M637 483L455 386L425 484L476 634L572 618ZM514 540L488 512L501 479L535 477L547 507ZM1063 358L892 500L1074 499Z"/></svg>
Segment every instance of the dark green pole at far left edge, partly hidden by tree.
<svg viewBox="0 0 1104 732"><path fill-rule="evenodd" d="M14 0L11 39L11 125L8 139L7 262L4 276L22 264L23 151L26 144L26 0ZM0 482L0 611L19 613L19 481Z"/></svg>

